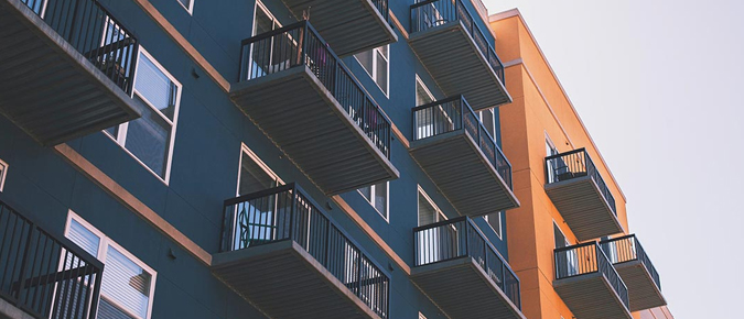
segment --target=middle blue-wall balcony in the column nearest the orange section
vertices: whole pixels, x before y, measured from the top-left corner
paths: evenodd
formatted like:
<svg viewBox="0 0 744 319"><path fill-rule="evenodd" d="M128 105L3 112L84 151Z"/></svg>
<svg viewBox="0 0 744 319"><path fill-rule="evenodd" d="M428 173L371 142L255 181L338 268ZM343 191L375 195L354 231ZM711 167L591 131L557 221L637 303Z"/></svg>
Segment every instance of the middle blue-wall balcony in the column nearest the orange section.
<svg viewBox="0 0 744 319"><path fill-rule="evenodd" d="M511 164L463 96L413 109L410 153L462 216L519 207Z"/></svg>

